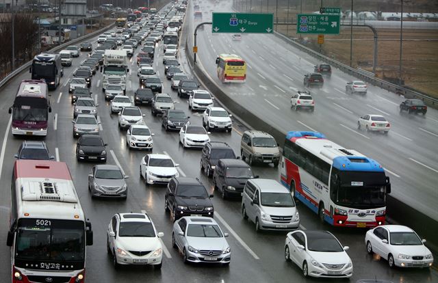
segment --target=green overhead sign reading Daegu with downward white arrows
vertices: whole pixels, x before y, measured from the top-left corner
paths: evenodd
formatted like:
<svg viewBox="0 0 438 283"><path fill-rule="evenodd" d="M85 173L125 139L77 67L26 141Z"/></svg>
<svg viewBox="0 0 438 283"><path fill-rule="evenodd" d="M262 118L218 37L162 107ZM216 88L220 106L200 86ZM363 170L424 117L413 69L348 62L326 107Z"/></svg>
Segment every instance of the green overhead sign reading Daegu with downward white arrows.
<svg viewBox="0 0 438 283"><path fill-rule="evenodd" d="M272 33L274 14L213 13L212 33Z"/></svg>

